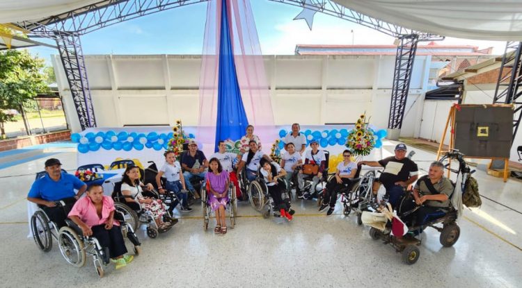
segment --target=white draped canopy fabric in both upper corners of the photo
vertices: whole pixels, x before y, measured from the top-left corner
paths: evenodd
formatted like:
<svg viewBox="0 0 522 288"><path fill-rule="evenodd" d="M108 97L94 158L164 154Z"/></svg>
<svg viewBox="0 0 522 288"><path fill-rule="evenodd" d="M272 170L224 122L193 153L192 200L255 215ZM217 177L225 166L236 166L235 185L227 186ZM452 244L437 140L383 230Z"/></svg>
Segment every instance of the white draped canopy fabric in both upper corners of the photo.
<svg viewBox="0 0 522 288"><path fill-rule="evenodd" d="M476 40L522 40L521 0L332 1L416 31ZM0 23L43 19L97 2L103 1L2 0Z"/></svg>

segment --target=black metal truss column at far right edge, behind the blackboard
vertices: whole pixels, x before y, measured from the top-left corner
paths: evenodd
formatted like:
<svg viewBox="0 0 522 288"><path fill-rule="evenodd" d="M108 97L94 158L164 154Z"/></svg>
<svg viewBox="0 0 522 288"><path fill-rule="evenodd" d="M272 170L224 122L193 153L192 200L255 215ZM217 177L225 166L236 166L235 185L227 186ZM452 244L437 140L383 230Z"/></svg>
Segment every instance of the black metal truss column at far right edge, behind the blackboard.
<svg viewBox="0 0 522 288"><path fill-rule="evenodd" d="M493 103L513 104L513 138L522 120L522 42L507 42Z"/></svg>

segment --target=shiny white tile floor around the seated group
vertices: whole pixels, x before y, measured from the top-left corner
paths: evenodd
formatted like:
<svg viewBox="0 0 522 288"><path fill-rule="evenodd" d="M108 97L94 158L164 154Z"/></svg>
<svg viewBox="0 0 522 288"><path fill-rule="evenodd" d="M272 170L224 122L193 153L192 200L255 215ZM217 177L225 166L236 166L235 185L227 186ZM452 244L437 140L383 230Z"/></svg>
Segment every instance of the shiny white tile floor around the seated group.
<svg viewBox="0 0 522 288"><path fill-rule="evenodd" d="M384 155L395 144L387 142ZM427 169L433 153L416 150L414 160ZM65 169L76 168L75 153L57 157ZM125 269L106 268L98 279L90 258L76 269L61 257L56 244L49 253L26 238L25 196L45 159L0 170L1 287L521 287L522 183L477 171L483 199L480 210L459 219L461 237L451 248L439 233L425 232L420 259L406 266L393 248L372 241L355 217L318 214L315 203L293 203L296 217L262 219L248 203L239 203L237 226L225 237L204 232L200 208L173 230L148 239L143 254ZM26 176L19 176L29 174ZM184 215L186 216L186 215ZM517 284L518 283L518 284Z"/></svg>

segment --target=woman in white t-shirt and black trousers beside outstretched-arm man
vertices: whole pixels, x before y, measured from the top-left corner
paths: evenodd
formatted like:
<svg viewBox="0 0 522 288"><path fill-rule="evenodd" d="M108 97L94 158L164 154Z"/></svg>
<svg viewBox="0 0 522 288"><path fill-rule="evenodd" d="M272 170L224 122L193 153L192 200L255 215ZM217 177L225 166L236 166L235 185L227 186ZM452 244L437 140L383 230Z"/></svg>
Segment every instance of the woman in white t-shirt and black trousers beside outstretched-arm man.
<svg viewBox="0 0 522 288"><path fill-rule="evenodd" d="M350 160L351 151L348 149L342 151L342 157L344 161L339 162L335 176L326 185L326 194L324 195L321 207L319 207L319 211L324 211L326 207L330 205L330 209L326 212L328 216L330 216L335 209L338 191L344 188L345 185L351 185L350 179L354 178L357 171L357 164Z"/></svg>

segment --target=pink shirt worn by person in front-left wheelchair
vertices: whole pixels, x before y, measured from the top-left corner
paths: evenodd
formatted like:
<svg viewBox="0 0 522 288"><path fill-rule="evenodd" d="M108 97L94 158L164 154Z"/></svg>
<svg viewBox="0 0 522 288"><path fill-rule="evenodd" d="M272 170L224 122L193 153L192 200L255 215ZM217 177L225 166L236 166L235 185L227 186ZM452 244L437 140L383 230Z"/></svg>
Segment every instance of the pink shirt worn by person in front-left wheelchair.
<svg viewBox="0 0 522 288"><path fill-rule="evenodd" d="M81 221L86 223L87 226L93 227L105 224L111 211L114 211L114 201L109 196L103 196L102 200L102 218L98 217L96 212L96 207L93 204L93 201L90 201L88 196L84 198L80 198L74 206L72 206L71 212L69 212L69 217L77 216ZM113 225L120 226L120 223L116 220L113 220Z"/></svg>

